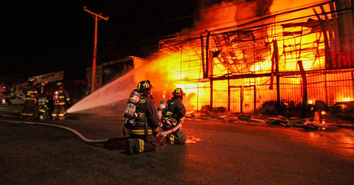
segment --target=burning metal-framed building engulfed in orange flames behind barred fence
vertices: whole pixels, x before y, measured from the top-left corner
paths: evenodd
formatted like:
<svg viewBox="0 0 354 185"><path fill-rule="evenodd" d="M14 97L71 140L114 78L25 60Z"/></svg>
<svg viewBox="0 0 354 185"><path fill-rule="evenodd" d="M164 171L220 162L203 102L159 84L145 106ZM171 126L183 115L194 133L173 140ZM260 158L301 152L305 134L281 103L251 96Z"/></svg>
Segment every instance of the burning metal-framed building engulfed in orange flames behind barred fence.
<svg viewBox="0 0 354 185"><path fill-rule="evenodd" d="M202 10L195 29L160 40L168 84L185 90L186 108L352 101L354 5L302 1L224 1Z"/></svg>

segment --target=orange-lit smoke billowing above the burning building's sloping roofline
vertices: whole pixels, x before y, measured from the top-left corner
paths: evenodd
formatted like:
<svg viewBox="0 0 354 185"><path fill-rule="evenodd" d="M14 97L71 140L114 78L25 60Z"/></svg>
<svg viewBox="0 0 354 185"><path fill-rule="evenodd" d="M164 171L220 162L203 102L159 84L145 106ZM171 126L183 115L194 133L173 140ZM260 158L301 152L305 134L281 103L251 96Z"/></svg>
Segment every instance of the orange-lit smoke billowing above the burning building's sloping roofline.
<svg viewBox="0 0 354 185"><path fill-rule="evenodd" d="M325 0L200 0L193 33L235 27L262 16ZM310 10L312 11L312 10ZM262 22L259 22L262 24Z"/></svg>

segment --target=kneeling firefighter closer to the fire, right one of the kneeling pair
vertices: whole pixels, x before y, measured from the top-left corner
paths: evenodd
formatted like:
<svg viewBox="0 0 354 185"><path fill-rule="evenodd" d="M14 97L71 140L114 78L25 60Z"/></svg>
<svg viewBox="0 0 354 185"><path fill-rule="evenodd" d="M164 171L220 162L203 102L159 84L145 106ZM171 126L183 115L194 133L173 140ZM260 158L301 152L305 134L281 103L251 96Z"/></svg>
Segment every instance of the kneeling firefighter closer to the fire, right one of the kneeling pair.
<svg viewBox="0 0 354 185"><path fill-rule="evenodd" d="M181 88L177 88L172 92L173 97L167 101L167 107L161 119L162 129L164 131L170 130L177 126L179 123L183 123L186 110L182 103L185 93ZM166 138L166 142L169 144L184 144L187 140L185 134L179 127L175 132L161 135L160 143L163 144L163 140Z"/></svg>

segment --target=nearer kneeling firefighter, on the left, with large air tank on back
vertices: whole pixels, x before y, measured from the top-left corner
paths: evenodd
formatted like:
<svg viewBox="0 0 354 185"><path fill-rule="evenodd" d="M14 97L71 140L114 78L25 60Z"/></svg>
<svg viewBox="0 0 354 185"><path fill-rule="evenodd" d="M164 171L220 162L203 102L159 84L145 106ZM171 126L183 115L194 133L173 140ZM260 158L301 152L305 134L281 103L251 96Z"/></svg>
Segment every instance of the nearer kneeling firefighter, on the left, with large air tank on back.
<svg viewBox="0 0 354 185"><path fill-rule="evenodd" d="M137 91L142 96L137 104L134 122L124 122L124 127L131 136L127 140L127 152L130 154L154 151L157 148L154 136L159 130L159 119L152 101L151 88L152 84L148 80L138 84Z"/></svg>

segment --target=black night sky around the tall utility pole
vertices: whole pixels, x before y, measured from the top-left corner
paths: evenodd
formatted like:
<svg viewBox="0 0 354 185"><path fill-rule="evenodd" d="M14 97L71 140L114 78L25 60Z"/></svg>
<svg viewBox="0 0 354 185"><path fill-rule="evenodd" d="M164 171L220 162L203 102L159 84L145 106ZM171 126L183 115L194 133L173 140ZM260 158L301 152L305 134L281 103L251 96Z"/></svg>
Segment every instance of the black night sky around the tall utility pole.
<svg viewBox="0 0 354 185"><path fill-rule="evenodd" d="M85 79L92 66L94 18L97 64L146 57L164 36L190 28L203 0L7 0L1 3L0 77L27 79L64 70Z"/></svg>

